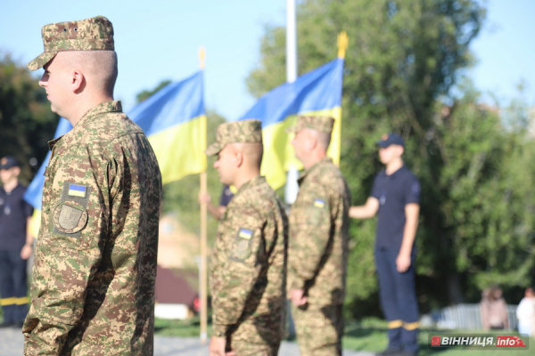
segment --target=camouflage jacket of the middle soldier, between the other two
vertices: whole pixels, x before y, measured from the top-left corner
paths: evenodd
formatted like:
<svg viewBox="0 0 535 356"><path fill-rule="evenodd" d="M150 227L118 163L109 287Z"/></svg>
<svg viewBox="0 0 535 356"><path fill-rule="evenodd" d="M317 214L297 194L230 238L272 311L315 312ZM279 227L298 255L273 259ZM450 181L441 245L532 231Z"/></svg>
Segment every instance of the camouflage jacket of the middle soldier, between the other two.
<svg viewBox="0 0 535 356"><path fill-rule="evenodd" d="M213 334L251 344L284 334L288 223L264 177L243 184L218 226L211 259Z"/></svg>

